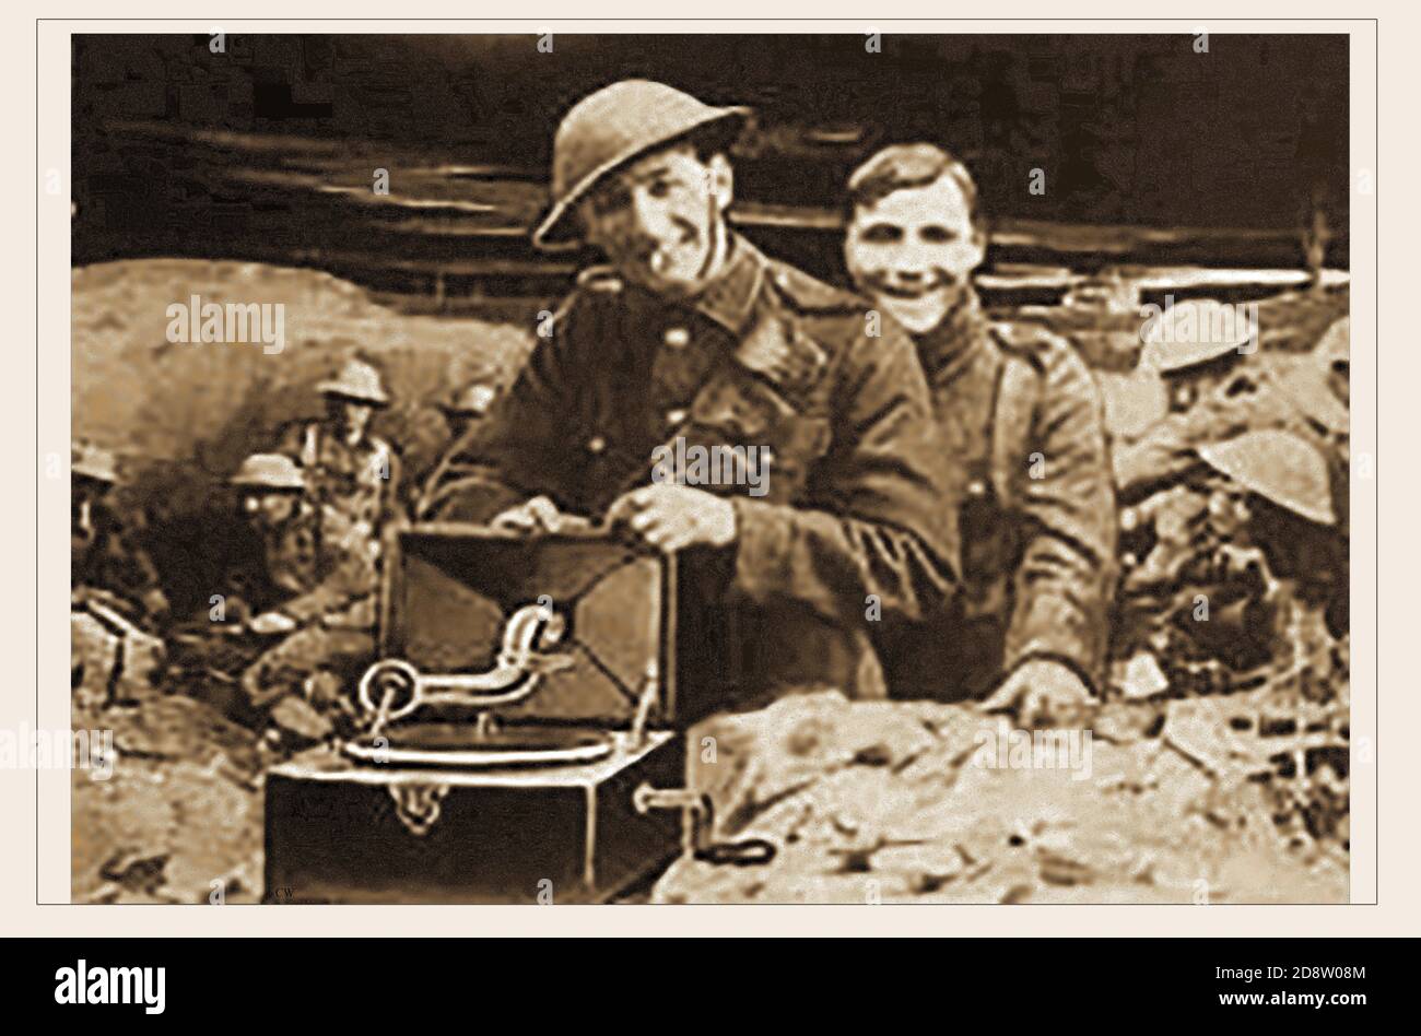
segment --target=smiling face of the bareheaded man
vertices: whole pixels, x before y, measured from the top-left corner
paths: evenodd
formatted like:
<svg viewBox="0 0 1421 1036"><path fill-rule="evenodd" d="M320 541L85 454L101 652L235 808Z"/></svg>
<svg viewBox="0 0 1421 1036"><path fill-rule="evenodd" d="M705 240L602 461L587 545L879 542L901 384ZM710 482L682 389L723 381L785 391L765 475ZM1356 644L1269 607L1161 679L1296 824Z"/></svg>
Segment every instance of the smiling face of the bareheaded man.
<svg viewBox="0 0 1421 1036"><path fill-rule="evenodd" d="M942 320L983 254L983 234L951 176L854 206L844 239L858 290L918 333Z"/></svg>

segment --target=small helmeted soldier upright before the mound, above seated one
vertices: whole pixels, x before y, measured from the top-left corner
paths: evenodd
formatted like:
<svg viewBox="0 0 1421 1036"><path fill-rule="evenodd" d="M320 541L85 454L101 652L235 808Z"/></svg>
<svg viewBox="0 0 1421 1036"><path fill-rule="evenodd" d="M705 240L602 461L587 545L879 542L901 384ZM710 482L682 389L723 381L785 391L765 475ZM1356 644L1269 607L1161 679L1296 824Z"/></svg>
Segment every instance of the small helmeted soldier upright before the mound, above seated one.
<svg viewBox="0 0 1421 1036"><path fill-rule="evenodd" d="M385 385L372 365L351 360L317 388L325 419L294 428L277 452L301 465L327 539L378 541L399 485L395 450L369 432L375 411L389 405Z"/></svg>

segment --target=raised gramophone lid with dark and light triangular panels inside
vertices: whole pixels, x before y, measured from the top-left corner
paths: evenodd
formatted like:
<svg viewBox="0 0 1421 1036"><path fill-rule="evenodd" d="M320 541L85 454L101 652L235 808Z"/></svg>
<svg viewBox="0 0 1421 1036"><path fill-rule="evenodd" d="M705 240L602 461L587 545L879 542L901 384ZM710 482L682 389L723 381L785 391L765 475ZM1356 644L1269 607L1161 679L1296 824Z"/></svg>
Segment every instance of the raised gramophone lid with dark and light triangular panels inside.
<svg viewBox="0 0 1421 1036"><path fill-rule="evenodd" d="M554 654L567 668L543 676L509 721L624 726L648 681L657 722L669 719L666 615L672 561L607 532L522 537L468 524L401 530L387 561L382 657L422 674L482 672L496 664L503 630L520 607L554 608L567 630Z"/></svg>

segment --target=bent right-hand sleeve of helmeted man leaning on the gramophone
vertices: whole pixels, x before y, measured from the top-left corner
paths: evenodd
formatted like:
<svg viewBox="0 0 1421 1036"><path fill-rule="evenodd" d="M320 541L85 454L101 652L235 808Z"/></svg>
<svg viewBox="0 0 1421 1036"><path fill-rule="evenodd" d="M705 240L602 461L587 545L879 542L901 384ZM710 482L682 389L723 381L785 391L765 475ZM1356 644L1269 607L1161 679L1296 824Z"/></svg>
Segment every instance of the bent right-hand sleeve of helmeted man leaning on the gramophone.
<svg viewBox="0 0 1421 1036"><path fill-rule="evenodd" d="M810 506L735 497L735 587L793 598L845 624L921 618L956 581L956 509L935 442L928 385L897 327L860 334L834 394L834 443L810 475ZM773 469L770 472L773 479Z"/></svg>

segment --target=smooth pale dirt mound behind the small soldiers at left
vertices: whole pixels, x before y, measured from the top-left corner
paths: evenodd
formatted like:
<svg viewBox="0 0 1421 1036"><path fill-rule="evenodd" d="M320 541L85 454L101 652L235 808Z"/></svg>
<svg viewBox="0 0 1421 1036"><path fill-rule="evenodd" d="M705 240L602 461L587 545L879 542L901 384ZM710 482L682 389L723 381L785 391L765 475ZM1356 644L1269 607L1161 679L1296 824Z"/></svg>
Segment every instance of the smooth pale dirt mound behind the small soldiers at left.
<svg viewBox="0 0 1421 1036"><path fill-rule="evenodd" d="M281 306L284 348L168 341L168 307ZM412 317L315 270L260 263L128 260L74 270L74 438L128 458L207 462L230 473L280 423L317 414L314 384L351 354L372 358L395 405L379 431L415 449L432 404L475 377L506 382L533 327Z"/></svg>

